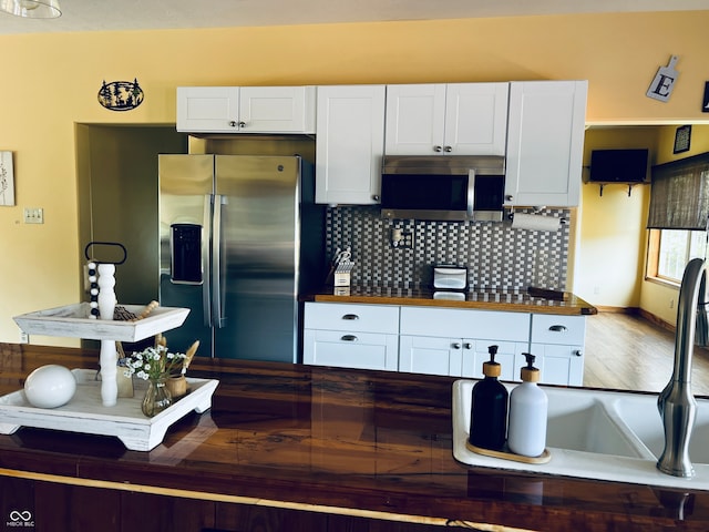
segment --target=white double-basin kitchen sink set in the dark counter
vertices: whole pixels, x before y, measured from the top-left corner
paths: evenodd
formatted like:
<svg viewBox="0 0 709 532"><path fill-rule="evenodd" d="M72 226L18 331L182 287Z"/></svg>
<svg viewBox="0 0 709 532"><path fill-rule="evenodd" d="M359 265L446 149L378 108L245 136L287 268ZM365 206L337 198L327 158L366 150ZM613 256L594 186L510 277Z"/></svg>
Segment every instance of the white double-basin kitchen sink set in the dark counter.
<svg viewBox="0 0 709 532"><path fill-rule="evenodd" d="M657 393L545 387L548 397L546 463L525 463L477 454L465 442L475 380L453 385L453 456L475 467L558 474L645 485L709 490L709 400L698 400L690 457L691 479L661 473L664 429ZM514 385L505 385L511 391Z"/></svg>

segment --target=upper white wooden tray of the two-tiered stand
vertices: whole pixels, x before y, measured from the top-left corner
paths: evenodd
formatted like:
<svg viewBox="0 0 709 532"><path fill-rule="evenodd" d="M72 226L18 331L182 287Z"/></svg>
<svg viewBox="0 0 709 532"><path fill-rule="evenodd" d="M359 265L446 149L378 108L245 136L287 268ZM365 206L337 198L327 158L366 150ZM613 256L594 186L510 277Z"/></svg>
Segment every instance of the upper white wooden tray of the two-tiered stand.
<svg viewBox="0 0 709 532"><path fill-rule="evenodd" d="M136 315L140 315L145 309L143 305L122 306ZM133 342L179 327L188 314L188 308L157 307L150 316L137 321L91 319L89 317L91 316L89 304L78 303L64 307L22 314L12 319L28 335Z"/></svg>

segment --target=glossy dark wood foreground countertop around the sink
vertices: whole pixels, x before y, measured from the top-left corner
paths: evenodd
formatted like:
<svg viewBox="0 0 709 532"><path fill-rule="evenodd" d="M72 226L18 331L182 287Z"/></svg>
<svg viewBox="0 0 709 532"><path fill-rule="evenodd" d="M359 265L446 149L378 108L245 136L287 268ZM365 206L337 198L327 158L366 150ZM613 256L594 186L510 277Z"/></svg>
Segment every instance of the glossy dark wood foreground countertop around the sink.
<svg viewBox="0 0 709 532"><path fill-rule="evenodd" d="M0 344L0 392L44 364L95 368L97 355ZM220 379L213 407L177 422L153 451L22 428L0 436L0 482L39 478L474 530L709 530L709 492L456 462L453 378L201 358L191 374Z"/></svg>

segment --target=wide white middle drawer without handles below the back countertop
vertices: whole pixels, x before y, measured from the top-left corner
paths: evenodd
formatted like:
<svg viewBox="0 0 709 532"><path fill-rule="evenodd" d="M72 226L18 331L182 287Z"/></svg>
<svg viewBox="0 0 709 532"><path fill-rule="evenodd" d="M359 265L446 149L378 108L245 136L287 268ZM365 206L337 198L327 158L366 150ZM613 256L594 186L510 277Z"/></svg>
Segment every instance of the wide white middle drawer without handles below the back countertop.
<svg viewBox="0 0 709 532"><path fill-rule="evenodd" d="M496 310L402 307L401 334L530 341L530 315Z"/></svg>

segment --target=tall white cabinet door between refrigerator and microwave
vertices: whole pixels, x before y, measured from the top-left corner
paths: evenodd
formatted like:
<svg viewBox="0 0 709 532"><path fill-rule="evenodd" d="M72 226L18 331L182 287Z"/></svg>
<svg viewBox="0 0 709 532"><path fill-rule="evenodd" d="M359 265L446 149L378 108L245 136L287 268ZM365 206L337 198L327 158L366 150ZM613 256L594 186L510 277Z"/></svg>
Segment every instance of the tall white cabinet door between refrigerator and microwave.
<svg viewBox="0 0 709 532"><path fill-rule="evenodd" d="M316 203L379 203L384 85L318 86Z"/></svg>

